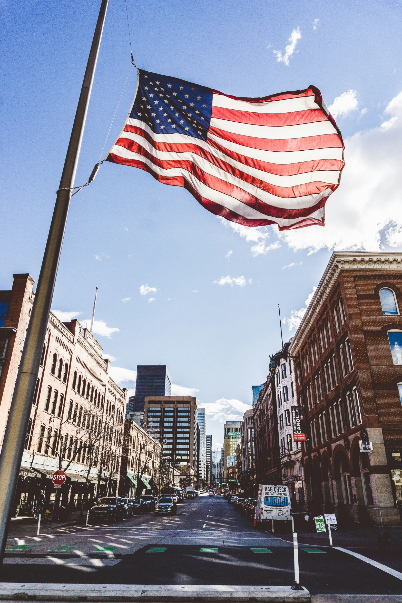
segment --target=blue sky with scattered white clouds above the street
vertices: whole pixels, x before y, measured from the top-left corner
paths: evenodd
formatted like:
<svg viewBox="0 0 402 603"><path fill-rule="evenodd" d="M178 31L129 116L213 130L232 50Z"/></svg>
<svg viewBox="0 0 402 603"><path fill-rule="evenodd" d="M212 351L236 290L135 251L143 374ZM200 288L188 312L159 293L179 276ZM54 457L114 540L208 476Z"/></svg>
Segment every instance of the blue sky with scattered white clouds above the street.
<svg viewBox="0 0 402 603"><path fill-rule="evenodd" d="M39 276L98 5L0 4L2 289L13 273ZM72 198L52 309L88 320L98 286L94 334L115 358L119 384L134 387L137 364L167 364L175 393L206 406L207 432L220 447L222 422L250 405L251 385L263 382L280 347L278 303L287 339L334 248L401 248L401 5L127 6L139 67L237 96L314 84L345 139L324 228L278 234L222 223L184 189L110 163ZM76 184L99 159L129 69L125 3L111 0ZM135 83L132 69L103 156Z"/></svg>

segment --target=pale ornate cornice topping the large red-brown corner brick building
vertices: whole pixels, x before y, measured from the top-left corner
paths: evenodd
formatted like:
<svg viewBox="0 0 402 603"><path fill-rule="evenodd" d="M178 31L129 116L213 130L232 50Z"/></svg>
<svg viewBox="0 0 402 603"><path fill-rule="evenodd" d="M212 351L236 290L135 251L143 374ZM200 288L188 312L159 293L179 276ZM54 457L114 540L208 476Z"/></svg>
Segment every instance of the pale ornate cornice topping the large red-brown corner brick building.
<svg viewBox="0 0 402 603"><path fill-rule="evenodd" d="M313 321L321 311L341 270L402 270L402 253L334 251L289 346L289 356L294 356L300 348L304 336L309 332Z"/></svg>

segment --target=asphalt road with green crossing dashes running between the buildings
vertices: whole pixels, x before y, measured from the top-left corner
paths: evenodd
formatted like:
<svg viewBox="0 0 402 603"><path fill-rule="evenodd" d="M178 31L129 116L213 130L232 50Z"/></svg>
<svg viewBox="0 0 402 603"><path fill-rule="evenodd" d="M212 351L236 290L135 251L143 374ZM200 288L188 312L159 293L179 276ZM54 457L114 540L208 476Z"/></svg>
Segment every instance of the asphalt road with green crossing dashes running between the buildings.
<svg viewBox="0 0 402 603"><path fill-rule="evenodd" d="M402 568L402 549L350 550ZM402 594L402 579L347 552L300 545L299 563L300 582L313 594ZM294 554L280 534L253 528L223 497L200 496L178 505L176 516L149 513L113 526L10 538L1 581L22 580L291 585Z"/></svg>

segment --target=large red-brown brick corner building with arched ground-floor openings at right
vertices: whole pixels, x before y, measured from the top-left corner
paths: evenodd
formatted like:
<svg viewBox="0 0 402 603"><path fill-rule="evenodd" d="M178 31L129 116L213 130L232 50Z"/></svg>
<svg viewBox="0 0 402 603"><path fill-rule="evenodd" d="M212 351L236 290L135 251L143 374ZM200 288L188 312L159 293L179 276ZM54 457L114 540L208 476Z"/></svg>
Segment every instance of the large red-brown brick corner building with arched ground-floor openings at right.
<svg viewBox="0 0 402 603"><path fill-rule="evenodd" d="M289 346L315 513L400 525L402 254L334 252ZM366 430L372 452L361 452ZM362 434L360 434L362 432Z"/></svg>

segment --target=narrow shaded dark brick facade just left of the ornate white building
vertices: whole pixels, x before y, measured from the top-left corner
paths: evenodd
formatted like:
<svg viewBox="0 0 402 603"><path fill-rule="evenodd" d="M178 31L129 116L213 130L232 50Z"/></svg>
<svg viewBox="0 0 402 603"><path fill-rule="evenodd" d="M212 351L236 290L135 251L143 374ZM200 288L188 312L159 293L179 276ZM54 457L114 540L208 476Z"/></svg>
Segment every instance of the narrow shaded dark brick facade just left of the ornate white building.
<svg viewBox="0 0 402 603"><path fill-rule="evenodd" d="M278 412L274 372L266 377L253 409L257 484L281 484Z"/></svg>

